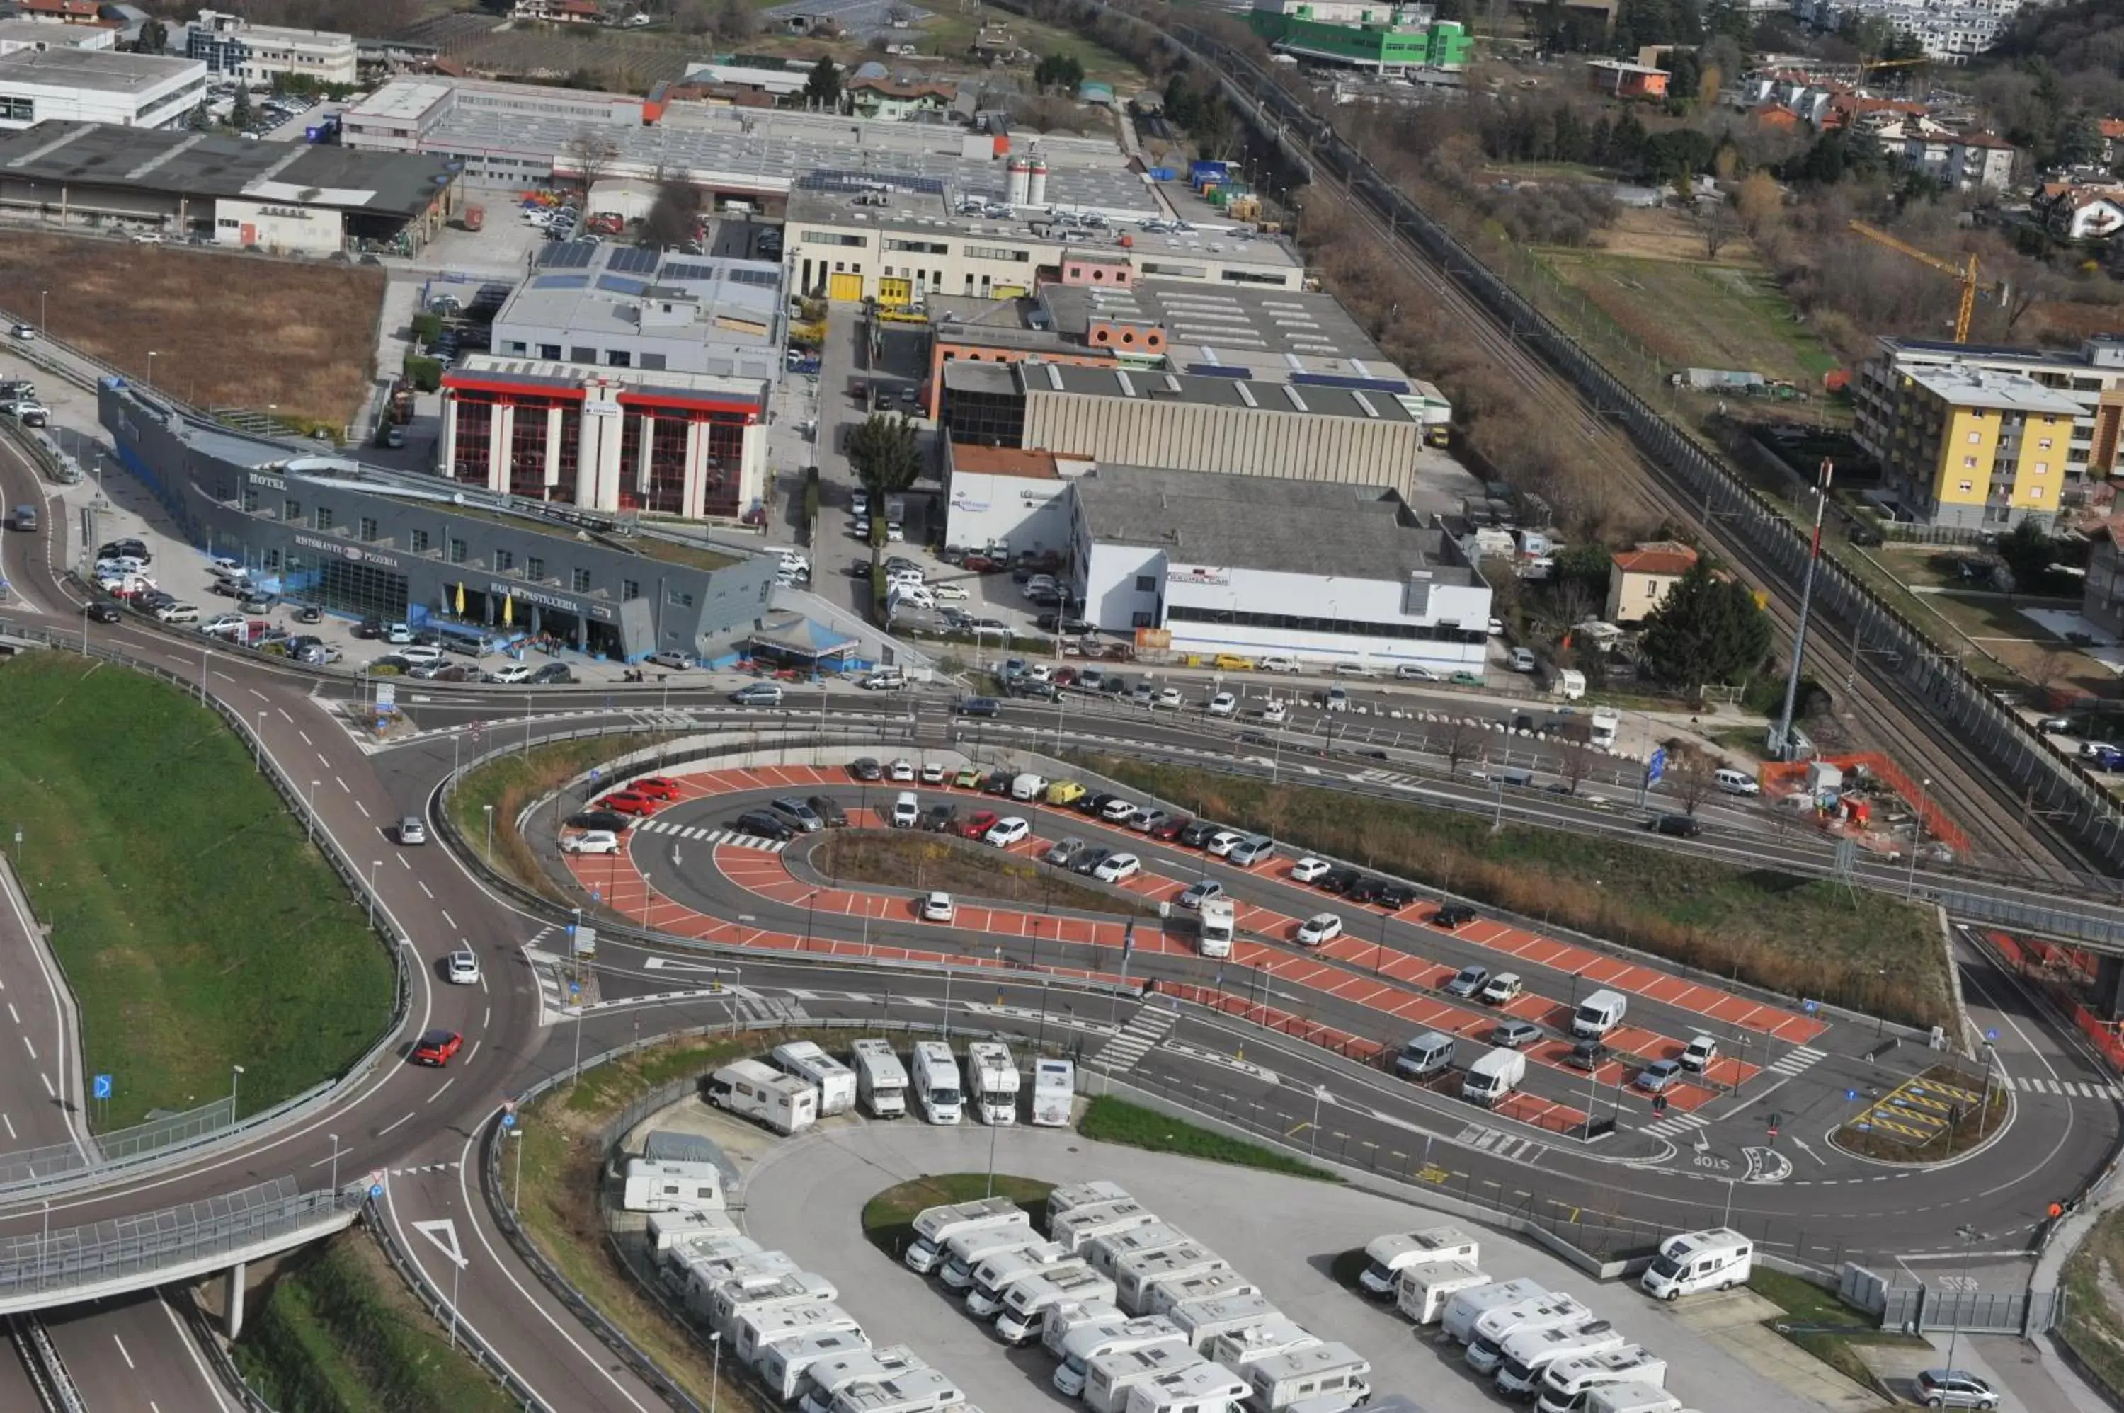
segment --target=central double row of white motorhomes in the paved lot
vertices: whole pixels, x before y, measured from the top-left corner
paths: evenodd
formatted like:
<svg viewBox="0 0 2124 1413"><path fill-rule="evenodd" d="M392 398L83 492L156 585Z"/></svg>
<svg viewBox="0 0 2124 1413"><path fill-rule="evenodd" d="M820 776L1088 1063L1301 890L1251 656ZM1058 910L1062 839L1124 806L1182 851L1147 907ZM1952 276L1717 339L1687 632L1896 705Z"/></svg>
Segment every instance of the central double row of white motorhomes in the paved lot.
<svg viewBox="0 0 2124 1413"><path fill-rule="evenodd" d="M1111 1181L1047 1194L1045 1232L1009 1198L930 1207L903 1254L964 1292L1011 1345L1039 1341L1054 1385L1092 1413L1340 1413L1372 1364L1270 1305L1202 1243Z"/></svg>

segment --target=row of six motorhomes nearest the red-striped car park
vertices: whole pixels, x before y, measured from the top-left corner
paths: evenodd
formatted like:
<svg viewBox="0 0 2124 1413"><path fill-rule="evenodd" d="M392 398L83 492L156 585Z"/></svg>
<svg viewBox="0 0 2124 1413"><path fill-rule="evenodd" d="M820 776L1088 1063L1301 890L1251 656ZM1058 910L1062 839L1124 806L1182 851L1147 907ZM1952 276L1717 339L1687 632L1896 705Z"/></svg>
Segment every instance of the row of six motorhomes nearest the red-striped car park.
<svg viewBox="0 0 2124 1413"><path fill-rule="evenodd" d="M905 1062L877 1037L854 1041L845 1062L813 1041L790 1041L765 1060L724 1065L701 1082L701 1096L782 1135L858 1105L871 1118L901 1118L913 1105L930 1124L956 1124L971 1109L979 1122L1003 1126L1017 1122L1020 1073L1003 1041L969 1043L964 1071L947 1041L915 1041ZM1032 1062L1034 1124L1066 1128L1075 1099L1070 1060Z"/></svg>

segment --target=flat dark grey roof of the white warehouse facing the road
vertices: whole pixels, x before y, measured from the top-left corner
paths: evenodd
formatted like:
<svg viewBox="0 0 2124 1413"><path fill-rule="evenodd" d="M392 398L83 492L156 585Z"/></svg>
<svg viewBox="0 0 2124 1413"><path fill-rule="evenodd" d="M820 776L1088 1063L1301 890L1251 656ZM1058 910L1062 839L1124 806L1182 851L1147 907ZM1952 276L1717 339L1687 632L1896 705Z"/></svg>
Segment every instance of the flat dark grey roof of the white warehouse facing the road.
<svg viewBox="0 0 2124 1413"><path fill-rule="evenodd" d="M1410 512L1385 487L1149 465L1096 465L1070 487L1094 540L1158 546L1179 563L1480 582L1442 529L1404 525Z"/></svg>

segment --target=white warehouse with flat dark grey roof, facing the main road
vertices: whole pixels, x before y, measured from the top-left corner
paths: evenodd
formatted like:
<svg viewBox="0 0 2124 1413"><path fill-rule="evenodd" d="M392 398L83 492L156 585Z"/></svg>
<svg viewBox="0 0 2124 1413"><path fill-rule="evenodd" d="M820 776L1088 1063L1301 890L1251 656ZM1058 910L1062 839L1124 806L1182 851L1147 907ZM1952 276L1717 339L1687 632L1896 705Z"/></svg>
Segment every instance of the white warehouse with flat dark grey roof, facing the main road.
<svg viewBox="0 0 2124 1413"><path fill-rule="evenodd" d="M1175 652L1483 671L1489 584L1398 493L1098 465L1070 484L1083 616Z"/></svg>

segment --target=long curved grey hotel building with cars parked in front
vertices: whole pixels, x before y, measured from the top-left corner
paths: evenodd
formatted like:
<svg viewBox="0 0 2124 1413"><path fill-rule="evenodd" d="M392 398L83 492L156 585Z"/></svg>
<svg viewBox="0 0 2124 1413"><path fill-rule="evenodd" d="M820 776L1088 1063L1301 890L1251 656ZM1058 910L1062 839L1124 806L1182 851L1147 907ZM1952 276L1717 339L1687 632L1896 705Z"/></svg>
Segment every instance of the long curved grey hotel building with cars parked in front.
<svg viewBox="0 0 2124 1413"><path fill-rule="evenodd" d="M580 652L718 657L769 616L780 559L690 548L193 421L121 378L98 389L119 461L198 546L266 589L353 616L552 637Z"/></svg>

